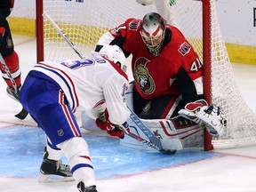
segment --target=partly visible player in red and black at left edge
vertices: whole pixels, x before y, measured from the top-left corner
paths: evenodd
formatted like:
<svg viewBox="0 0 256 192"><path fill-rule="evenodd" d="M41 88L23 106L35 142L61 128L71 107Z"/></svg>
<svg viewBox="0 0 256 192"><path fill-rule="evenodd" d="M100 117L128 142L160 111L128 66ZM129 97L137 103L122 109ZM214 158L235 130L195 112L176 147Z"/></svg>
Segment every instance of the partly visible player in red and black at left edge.
<svg viewBox="0 0 256 192"><path fill-rule="evenodd" d="M16 88L19 90L21 85L19 56L14 51L12 33L9 27L9 23L6 20L6 18L11 14L13 6L14 0L3 0L0 3L0 52L7 66L7 69L4 68L3 64L0 61L0 69L4 81L7 84L8 95L13 99L18 100L18 92L15 92L15 87L13 84L15 84L15 86L17 86ZM6 70L11 73L15 83L10 80L8 76L8 71Z"/></svg>

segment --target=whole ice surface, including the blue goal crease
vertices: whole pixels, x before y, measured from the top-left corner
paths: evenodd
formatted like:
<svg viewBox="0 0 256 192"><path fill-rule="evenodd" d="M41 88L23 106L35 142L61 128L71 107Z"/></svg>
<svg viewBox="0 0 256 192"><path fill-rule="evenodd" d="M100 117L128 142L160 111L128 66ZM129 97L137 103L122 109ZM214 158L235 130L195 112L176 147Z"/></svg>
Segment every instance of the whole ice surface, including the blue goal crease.
<svg viewBox="0 0 256 192"><path fill-rule="evenodd" d="M13 36L22 77L36 62L36 39ZM244 100L256 111L256 67L233 64ZM0 191L77 192L75 182L37 181L44 150L44 133L30 116L14 117L21 106L5 94L0 80ZM256 191L256 148L187 152L175 156L145 153L118 145L107 137L84 136L100 192L247 192ZM90 146L91 145L91 146Z"/></svg>

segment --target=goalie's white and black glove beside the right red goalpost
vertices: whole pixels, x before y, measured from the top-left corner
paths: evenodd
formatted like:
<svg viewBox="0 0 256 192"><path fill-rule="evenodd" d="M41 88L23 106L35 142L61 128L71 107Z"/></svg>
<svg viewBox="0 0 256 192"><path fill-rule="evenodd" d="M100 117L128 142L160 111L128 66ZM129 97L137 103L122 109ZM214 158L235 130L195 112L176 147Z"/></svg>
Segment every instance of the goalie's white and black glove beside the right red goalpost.
<svg viewBox="0 0 256 192"><path fill-rule="evenodd" d="M227 120L224 118L223 110L215 105L208 107L206 100L189 102L184 109L180 109L179 114L196 124L203 121L209 125L206 125L206 129L212 137L221 136L227 126Z"/></svg>

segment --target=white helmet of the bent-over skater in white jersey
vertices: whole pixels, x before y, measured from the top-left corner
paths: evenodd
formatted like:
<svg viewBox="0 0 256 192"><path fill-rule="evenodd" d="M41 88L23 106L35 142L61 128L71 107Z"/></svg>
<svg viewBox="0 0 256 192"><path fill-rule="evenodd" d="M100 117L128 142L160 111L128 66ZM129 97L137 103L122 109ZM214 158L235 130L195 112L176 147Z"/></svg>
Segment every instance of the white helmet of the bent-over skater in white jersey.
<svg viewBox="0 0 256 192"><path fill-rule="evenodd" d="M101 57L105 57L108 60L116 63L123 71L126 73L127 66L125 65L126 58L124 56L124 52L117 45L104 45L100 52L92 52L92 56L97 57L100 55Z"/></svg>

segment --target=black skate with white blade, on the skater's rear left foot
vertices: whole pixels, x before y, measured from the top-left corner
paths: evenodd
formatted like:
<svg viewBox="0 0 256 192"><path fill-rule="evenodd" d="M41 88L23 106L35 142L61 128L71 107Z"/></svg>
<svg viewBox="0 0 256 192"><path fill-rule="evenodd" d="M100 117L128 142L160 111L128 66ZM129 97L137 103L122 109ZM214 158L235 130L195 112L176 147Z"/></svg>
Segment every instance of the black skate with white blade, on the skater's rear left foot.
<svg viewBox="0 0 256 192"><path fill-rule="evenodd" d="M40 182L65 182L73 181L72 173L68 164L62 164L61 160L55 161L48 159L48 152L44 148L44 160L40 167L42 175Z"/></svg>

